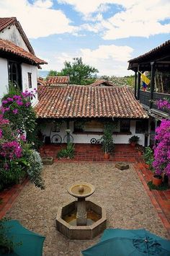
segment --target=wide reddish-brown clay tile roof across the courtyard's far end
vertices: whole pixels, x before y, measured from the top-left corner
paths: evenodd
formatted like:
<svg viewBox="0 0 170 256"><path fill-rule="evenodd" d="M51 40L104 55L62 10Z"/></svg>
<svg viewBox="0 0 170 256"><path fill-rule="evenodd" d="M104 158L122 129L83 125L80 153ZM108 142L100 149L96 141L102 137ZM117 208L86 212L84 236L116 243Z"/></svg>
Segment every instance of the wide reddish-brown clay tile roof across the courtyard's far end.
<svg viewBox="0 0 170 256"><path fill-rule="evenodd" d="M37 118L148 118L128 87L40 87Z"/></svg>

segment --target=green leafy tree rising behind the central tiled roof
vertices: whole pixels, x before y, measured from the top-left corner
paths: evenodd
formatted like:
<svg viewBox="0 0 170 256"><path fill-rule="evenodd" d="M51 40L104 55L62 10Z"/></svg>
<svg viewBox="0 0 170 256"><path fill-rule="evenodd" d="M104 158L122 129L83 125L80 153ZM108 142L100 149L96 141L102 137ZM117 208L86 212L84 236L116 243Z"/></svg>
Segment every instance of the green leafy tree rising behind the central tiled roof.
<svg viewBox="0 0 170 256"><path fill-rule="evenodd" d="M83 63L82 58L73 58L73 62L65 61L61 74L70 76L71 84L91 84L95 81L95 73L99 71Z"/></svg>

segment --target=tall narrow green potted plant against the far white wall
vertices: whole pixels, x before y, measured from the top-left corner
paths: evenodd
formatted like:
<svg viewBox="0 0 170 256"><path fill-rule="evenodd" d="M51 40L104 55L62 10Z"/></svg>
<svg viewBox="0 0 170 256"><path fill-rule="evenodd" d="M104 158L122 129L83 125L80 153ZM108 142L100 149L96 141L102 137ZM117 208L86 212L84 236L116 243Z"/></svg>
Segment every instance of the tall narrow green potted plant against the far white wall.
<svg viewBox="0 0 170 256"><path fill-rule="evenodd" d="M113 142L112 133L114 129L114 124L110 122L104 123L103 136L100 139L102 144L102 150L104 153L112 153L115 149L115 144Z"/></svg>

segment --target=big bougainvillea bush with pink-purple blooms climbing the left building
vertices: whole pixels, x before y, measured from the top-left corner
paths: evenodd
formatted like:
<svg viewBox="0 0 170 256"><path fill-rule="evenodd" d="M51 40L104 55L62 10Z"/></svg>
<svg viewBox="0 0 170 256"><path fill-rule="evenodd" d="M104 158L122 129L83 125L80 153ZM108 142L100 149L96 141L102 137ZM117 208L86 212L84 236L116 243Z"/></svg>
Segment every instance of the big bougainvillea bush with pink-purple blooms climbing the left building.
<svg viewBox="0 0 170 256"><path fill-rule="evenodd" d="M35 131L34 110L30 106L28 92L4 97L0 108L0 190L16 184L25 175L37 187L44 188L41 178L42 162L32 149L32 141L26 134ZM9 95L8 95L9 96ZM26 128L26 125L27 128ZM28 128L29 127L29 128ZM29 136L29 138L31 138ZM35 158L34 156L37 156ZM34 168L33 168L34 167Z"/></svg>

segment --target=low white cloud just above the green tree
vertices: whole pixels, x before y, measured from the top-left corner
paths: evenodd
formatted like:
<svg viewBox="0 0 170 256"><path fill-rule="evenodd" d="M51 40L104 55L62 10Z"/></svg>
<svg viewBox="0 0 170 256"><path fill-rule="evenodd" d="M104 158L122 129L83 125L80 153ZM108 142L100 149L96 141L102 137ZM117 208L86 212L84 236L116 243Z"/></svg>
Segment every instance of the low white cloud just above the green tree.
<svg viewBox="0 0 170 256"><path fill-rule="evenodd" d="M125 76L133 74L128 71L128 60L131 58L133 48L117 45L99 45L99 48L91 50L83 48L76 53L54 53L53 60L49 60L46 70L63 69L64 61L73 61L74 57L82 57L84 63L94 66L99 70L99 75ZM55 57L56 56L56 57Z"/></svg>

